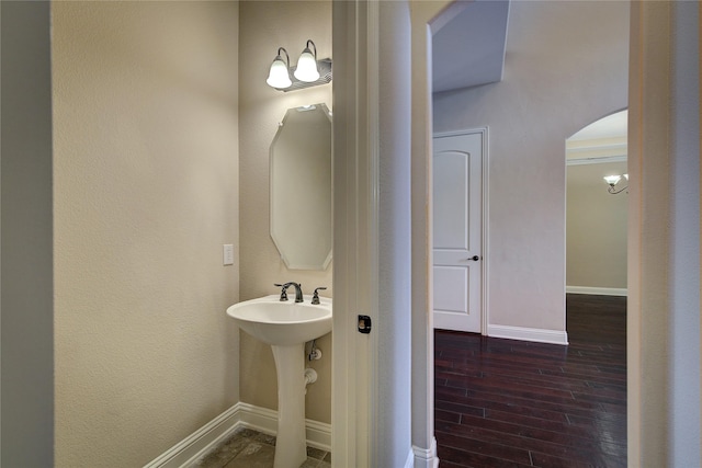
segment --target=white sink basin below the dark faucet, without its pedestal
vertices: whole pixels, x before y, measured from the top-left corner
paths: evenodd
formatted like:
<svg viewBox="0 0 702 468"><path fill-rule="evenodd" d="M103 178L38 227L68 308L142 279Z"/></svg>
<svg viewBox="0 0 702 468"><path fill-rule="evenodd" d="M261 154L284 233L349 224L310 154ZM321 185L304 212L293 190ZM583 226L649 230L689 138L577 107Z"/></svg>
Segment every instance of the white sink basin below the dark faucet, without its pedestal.
<svg viewBox="0 0 702 468"><path fill-rule="evenodd" d="M331 331L331 299L312 296L304 303L293 298L280 301L279 295L245 300L227 308L227 315L250 335L271 345L292 345L315 340Z"/></svg>

